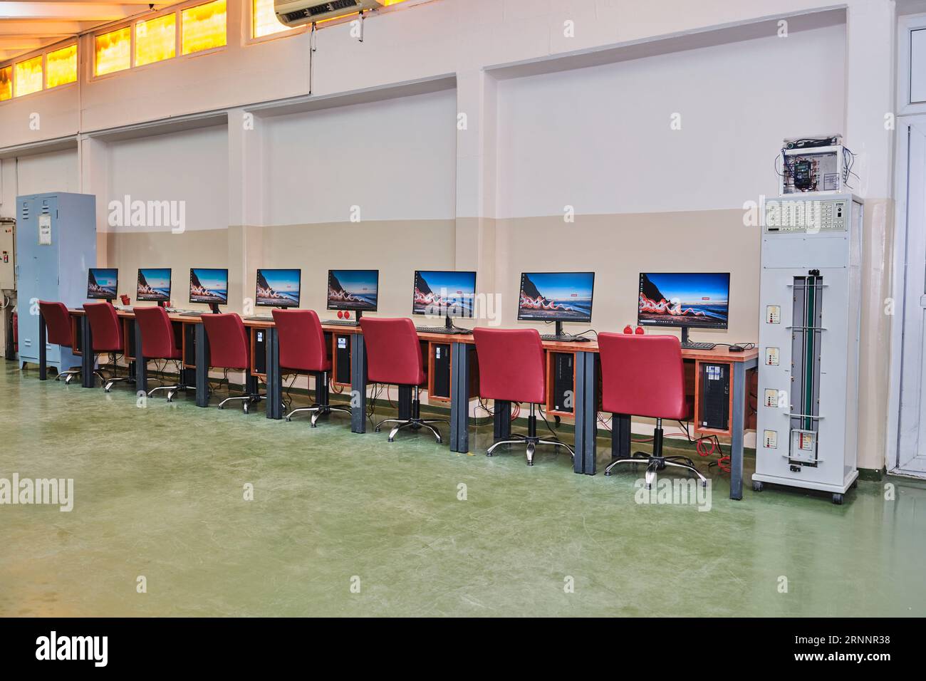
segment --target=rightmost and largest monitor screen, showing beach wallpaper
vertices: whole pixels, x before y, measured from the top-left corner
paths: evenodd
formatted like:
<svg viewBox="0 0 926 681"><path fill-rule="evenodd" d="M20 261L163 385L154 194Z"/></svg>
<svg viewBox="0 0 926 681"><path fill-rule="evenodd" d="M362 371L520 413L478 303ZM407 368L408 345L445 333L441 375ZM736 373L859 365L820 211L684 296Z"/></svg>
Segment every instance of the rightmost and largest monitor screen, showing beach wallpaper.
<svg viewBox="0 0 926 681"><path fill-rule="evenodd" d="M637 323L726 329L730 272L640 273Z"/></svg>

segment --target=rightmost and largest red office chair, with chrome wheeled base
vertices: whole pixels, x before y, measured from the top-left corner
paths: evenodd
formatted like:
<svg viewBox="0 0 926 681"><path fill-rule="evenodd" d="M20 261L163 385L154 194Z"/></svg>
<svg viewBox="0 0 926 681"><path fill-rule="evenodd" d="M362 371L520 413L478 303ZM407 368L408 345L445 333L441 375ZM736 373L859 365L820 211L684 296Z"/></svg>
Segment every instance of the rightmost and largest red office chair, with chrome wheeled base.
<svg viewBox="0 0 926 681"><path fill-rule="evenodd" d="M685 397L682 345L674 335L598 334L601 360L602 408L612 414L633 414L656 419L653 453L634 452L631 458L617 459L605 469L620 463L647 463L646 489L652 489L657 471L666 466L694 473L707 486L707 478L684 456L662 454L662 420L682 421L691 413Z"/></svg>

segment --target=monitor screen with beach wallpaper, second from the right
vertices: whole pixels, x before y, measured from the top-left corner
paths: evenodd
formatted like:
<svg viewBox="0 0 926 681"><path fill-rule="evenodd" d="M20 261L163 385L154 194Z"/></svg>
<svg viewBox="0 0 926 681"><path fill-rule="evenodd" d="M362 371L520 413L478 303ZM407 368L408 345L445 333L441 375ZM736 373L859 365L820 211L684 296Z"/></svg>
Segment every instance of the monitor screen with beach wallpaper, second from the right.
<svg viewBox="0 0 926 681"><path fill-rule="evenodd" d="M518 319L534 322L591 322L594 271L524 272Z"/></svg>

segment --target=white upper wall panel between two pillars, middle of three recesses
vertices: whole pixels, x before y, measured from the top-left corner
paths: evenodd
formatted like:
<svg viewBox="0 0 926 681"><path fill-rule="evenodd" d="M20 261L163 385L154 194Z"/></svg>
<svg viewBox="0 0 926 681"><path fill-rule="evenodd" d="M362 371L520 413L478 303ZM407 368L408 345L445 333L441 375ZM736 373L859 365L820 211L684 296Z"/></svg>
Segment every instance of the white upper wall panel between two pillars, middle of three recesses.
<svg viewBox="0 0 926 681"><path fill-rule="evenodd" d="M265 123L267 225L453 220L453 90L290 114Z"/></svg>

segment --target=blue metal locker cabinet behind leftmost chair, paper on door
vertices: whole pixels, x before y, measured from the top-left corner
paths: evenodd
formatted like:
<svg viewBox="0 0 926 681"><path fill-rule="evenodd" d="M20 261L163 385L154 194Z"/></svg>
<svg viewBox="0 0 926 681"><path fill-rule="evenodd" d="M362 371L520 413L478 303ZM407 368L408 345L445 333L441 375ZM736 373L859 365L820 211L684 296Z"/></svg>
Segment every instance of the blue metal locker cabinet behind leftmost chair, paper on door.
<svg viewBox="0 0 926 681"><path fill-rule="evenodd" d="M39 300L80 307L87 270L96 266L96 199L88 194L18 196L16 271L19 363L39 361ZM67 347L46 346L57 371L80 365Z"/></svg>

